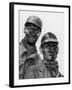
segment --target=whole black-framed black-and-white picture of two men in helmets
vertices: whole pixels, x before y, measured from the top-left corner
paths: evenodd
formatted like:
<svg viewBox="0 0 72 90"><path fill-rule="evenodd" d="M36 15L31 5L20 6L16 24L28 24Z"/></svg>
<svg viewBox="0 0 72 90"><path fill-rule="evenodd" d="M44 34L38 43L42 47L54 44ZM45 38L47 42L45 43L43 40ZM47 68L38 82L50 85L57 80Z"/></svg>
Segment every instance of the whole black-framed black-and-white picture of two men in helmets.
<svg viewBox="0 0 72 90"><path fill-rule="evenodd" d="M10 87L70 83L70 6L10 3Z"/></svg>

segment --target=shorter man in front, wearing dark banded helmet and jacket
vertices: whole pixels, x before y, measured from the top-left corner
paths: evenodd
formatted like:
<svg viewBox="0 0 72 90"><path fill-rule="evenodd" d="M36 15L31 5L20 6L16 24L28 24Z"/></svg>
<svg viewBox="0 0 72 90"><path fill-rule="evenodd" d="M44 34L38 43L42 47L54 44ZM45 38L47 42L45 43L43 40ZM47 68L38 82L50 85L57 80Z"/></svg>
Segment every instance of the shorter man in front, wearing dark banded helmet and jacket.
<svg viewBox="0 0 72 90"><path fill-rule="evenodd" d="M59 50L58 44L57 37L53 33L48 32L43 36L40 45L43 60L40 60L36 65L30 66L27 69L25 78L63 77L59 72L58 61L56 61Z"/></svg>

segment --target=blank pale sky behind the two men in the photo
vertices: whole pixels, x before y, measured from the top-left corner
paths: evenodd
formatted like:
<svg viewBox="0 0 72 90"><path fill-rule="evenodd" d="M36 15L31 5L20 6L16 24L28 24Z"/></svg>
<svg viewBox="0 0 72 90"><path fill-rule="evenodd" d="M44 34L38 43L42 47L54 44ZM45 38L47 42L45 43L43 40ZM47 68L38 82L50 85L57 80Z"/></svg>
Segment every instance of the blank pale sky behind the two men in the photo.
<svg viewBox="0 0 72 90"><path fill-rule="evenodd" d="M40 11L19 11L19 41L24 38L24 24L29 16L38 16L42 20L42 32L36 43L38 53L41 58L42 54L39 51L41 38L47 32L52 32L57 36L59 41L59 53L57 61L59 70L64 75L64 13L63 12L40 12Z"/></svg>

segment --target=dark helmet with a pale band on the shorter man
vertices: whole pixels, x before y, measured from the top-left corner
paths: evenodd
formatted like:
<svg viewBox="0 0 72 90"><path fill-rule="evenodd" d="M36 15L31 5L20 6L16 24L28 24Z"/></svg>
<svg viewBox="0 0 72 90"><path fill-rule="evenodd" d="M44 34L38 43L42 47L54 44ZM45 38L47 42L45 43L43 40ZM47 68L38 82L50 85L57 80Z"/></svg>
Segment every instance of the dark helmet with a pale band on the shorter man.
<svg viewBox="0 0 72 90"><path fill-rule="evenodd" d="M53 45L58 45L57 37L51 33L46 33L43 38L41 39L41 46L43 46L45 43L52 43Z"/></svg>

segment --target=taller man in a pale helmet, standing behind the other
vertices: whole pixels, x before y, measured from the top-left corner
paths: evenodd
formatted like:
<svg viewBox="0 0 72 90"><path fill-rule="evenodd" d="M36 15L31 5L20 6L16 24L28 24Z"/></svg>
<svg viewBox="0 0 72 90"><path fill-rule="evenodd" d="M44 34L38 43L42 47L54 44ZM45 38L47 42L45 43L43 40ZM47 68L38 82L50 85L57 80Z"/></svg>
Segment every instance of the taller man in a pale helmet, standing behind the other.
<svg viewBox="0 0 72 90"><path fill-rule="evenodd" d="M24 25L25 37L21 40L19 45L19 79L24 78L24 62L28 58L35 58L38 60L39 54L36 49L36 42L41 34L42 21L38 16L29 16ZM37 62L34 61L34 63ZM30 61L28 61L30 63Z"/></svg>

